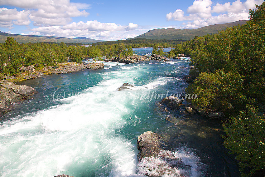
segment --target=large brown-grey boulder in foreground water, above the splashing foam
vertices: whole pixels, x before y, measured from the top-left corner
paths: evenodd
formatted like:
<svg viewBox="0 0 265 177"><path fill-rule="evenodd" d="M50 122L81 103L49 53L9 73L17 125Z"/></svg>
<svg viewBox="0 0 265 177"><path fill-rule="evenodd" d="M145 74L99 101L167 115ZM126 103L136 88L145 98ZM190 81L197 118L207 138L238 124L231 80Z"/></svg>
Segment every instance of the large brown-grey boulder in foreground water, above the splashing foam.
<svg viewBox="0 0 265 177"><path fill-rule="evenodd" d="M137 149L140 150L137 159L140 162L144 157L158 156L165 148L166 142L161 134L152 131L144 132L137 139Z"/></svg>

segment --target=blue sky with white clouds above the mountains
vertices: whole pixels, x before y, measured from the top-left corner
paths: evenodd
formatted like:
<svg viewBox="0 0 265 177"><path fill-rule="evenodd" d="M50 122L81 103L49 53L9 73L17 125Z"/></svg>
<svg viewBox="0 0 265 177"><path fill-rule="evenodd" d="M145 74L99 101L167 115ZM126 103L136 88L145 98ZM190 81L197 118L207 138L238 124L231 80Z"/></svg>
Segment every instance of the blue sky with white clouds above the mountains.
<svg viewBox="0 0 265 177"><path fill-rule="evenodd" d="M263 0L0 0L0 31L119 40L151 29L195 29L248 19Z"/></svg>

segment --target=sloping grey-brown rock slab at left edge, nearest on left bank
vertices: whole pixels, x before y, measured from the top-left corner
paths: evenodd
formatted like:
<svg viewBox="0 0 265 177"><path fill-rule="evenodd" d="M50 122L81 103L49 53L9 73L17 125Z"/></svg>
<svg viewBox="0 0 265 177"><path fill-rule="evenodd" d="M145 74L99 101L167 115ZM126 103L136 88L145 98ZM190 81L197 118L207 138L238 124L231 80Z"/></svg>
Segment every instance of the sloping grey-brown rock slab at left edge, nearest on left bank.
<svg viewBox="0 0 265 177"><path fill-rule="evenodd" d="M31 99L37 91L30 86L17 85L13 82L0 82L0 117L12 111L14 105Z"/></svg>

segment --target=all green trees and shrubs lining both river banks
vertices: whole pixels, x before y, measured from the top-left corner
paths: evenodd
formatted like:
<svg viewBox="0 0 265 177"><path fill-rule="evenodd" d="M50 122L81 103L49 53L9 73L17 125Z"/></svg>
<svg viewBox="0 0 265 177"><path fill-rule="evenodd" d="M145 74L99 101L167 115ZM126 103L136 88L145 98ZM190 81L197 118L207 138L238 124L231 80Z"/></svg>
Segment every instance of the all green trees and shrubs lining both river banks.
<svg viewBox="0 0 265 177"><path fill-rule="evenodd" d="M249 16L250 20L242 26L168 45L128 45L127 40L122 40L125 43L102 42L88 47L64 43L18 44L8 37L4 44L0 44L0 73L16 77L23 74L22 66L34 66L37 71L45 68L51 71L49 67L53 67L55 71L67 61L81 66L78 63L82 63L82 57L102 61L104 56L105 61L127 62L135 56L132 51L135 46L153 47L152 57L178 57L184 53L191 57L190 66L193 66L186 78L191 83L186 92L197 95L190 101L191 107L205 113L224 112L227 119L223 122L226 133L223 144L236 155L241 176L264 176L265 1L250 10ZM170 52L164 52L161 47L173 45L175 49ZM142 58L145 61L148 57Z"/></svg>

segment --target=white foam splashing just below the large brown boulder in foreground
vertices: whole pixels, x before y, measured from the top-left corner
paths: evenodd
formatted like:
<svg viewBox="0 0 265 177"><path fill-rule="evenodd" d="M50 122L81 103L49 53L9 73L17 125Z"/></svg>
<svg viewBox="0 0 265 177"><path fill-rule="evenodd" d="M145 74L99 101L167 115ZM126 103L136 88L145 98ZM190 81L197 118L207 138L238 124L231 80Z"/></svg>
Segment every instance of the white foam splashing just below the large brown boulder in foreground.
<svg viewBox="0 0 265 177"><path fill-rule="evenodd" d="M137 172L147 176L200 177L204 176L205 167L199 157L183 146L176 152L161 150L158 157L142 158Z"/></svg>

